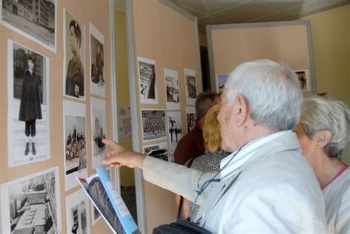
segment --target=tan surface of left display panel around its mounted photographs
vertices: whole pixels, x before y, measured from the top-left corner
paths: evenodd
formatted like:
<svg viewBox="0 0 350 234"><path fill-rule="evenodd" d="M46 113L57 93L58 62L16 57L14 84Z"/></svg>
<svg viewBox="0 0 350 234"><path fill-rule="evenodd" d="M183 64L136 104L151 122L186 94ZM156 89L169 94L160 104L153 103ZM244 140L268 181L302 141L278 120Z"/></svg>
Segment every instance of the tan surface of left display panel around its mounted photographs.
<svg viewBox="0 0 350 234"><path fill-rule="evenodd" d="M0 25L0 128L3 130L0 133L0 183L9 182L17 178L32 175L45 169L51 169L52 167L58 167L59 171L59 193L61 199L59 200L61 209L61 216L58 218L61 220L61 232L68 233L66 228L66 197L71 195L75 191L80 189L76 186L68 191L65 191L65 162L63 153L63 100L72 100L76 103L85 104L86 108L86 122L85 122L85 134L87 143L87 164L88 175L94 173L92 169L92 129L90 124L90 98L95 96L90 94L90 34L89 34L89 22L93 23L96 28L104 35L104 52L105 52L105 102L106 102L106 123L107 123L107 138L112 138L112 105L111 105L111 87L112 87L112 75L111 75L111 32L110 32L110 1L68 1L58 0L56 1L56 52L48 50L47 47L35 43L34 41L22 36L21 34L10 30L9 28ZM70 97L63 97L63 8L66 8L70 13L76 17L76 19L84 25L85 36L82 46L85 47L85 59L82 63L85 65L85 100L76 100ZM8 167L8 137L7 127L11 120L7 118L8 111L8 92L10 89L6 89L8 84L7 78L7 66L8 66L8 39L20 43L21 45L28 47L34 52L38 52L43 56L50 58L50 73L48 79L50 81L49 87L49 105L50 105L50 159L42 160L40 162L32 162L17 167ZM101 98L101 97L100 97ZM23 134L24 135L24 134ZM75 178L74 178L75 179ZM58 181L58 180L56 180ZM84 195L85 196L85 195ZM9 209L6 206L2 206L1 209ZM91 224L91 206L88 205L88 213ZM93 226L90 226L91 233L111 233L110 228L103 220L99 220Z"/></svg>

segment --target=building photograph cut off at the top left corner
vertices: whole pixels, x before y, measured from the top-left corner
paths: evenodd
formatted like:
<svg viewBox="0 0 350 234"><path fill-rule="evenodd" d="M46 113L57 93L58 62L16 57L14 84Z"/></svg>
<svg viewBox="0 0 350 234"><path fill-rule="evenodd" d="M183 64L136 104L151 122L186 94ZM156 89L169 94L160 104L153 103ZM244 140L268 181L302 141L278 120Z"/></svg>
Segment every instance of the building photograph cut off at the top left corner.
<svg viewBox="0 0 350 234"><path fill-rule="evenodd" d="M0 19L7 28L56 52L56 12L57 0L2 0Z"/></svg>

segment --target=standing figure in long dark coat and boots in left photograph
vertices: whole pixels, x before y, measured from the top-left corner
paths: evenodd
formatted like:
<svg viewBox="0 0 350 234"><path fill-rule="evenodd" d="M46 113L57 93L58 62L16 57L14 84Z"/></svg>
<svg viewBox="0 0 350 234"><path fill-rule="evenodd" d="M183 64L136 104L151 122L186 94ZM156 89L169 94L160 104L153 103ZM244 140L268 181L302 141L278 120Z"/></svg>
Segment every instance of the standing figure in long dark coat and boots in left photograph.
<svg viewBox="0 0 350 234"><path fill-rule="evenodd" d="M28 56L28 69L23 74L23 87L21 95L21 104L19 107L19 120L25 122L24 133L27 137L25 143L24 155L29 153L30 146L32 147L32 154L35 155L35 140L36 135L36 120L43 118L41 113L41 100L39 94L40 80L35 74L34 56ZM32 142L30 145L29 143Z"/></svg>

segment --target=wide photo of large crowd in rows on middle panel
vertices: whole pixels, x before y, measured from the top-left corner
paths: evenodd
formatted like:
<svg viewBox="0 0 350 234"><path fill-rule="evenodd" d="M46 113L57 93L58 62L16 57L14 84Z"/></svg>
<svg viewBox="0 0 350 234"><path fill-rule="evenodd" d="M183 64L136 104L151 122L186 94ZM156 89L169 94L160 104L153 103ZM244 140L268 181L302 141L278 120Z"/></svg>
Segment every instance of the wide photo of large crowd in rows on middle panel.
<svg viewBox="0 0 350 234"><path fill-rule="evenodd" d="M141 109L143 141L165 139L165 110Z"/></svg>

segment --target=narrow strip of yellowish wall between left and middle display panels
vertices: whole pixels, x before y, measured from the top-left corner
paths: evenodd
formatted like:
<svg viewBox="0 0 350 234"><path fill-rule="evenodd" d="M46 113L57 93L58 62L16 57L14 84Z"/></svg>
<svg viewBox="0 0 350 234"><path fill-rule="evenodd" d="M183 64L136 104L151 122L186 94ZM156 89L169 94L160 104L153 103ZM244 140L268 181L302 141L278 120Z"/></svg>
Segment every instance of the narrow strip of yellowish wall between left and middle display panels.
<svg viewBox="0 0 350 234"><path fill-rule="evenodd" d="M127 42L125 13L115 12L116 28L116 100L118 106L130 107L129 73L127 72ZM132 149L132 139L120 139L119 143L127 149ZM134 169L120 168L121 186L135 185Z"/></svg>

